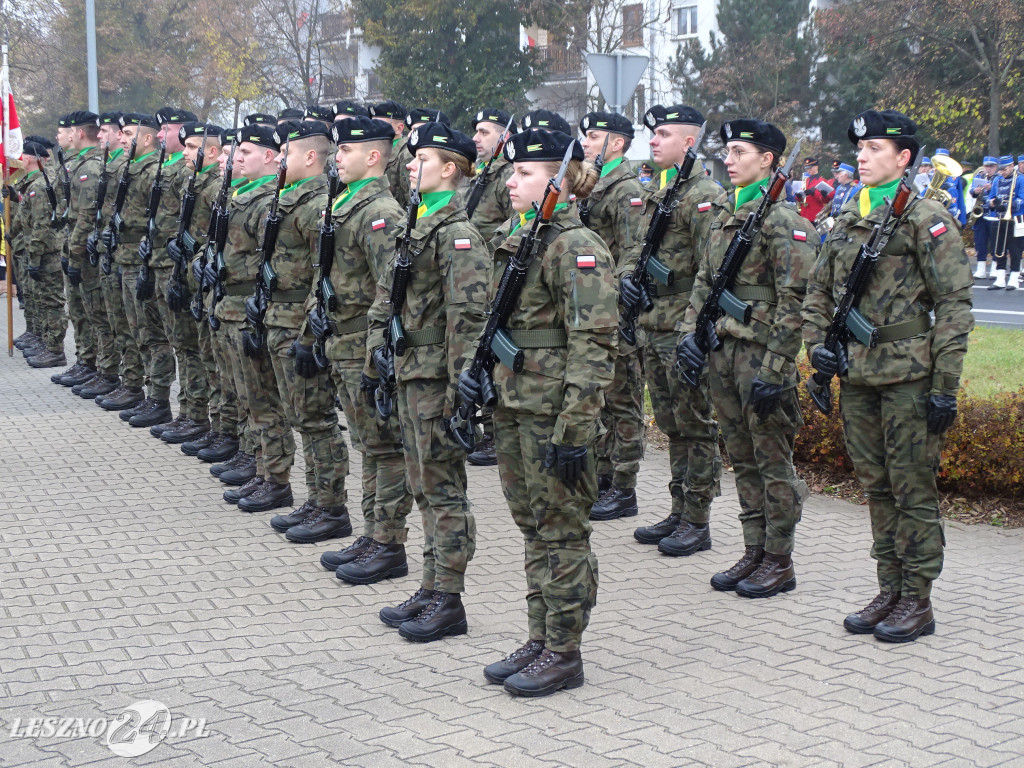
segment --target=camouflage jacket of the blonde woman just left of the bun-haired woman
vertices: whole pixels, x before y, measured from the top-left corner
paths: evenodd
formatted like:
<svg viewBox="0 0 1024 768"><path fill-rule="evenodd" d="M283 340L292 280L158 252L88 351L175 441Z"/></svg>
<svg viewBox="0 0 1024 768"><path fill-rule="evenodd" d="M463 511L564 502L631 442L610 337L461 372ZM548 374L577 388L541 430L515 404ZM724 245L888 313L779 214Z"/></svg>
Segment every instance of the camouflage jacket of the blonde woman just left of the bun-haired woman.
<svg viewBox="0 0 1024 768"><path fill-rule="evenodd" d="M396 358L395 373L398 381L446 380L450 392L445 412L450 412L459 374L483 329L490 263L483 239L469 223L458 196L432 215L417 220L412 232L411 258L402 328L407 336L418 332L439 333L443 341L411 345L404 355ZM390 316L388 299L393 271L394 259L377 284L377 297L368 313L368 371L375 371L370 354L380 346Z"/></svg>

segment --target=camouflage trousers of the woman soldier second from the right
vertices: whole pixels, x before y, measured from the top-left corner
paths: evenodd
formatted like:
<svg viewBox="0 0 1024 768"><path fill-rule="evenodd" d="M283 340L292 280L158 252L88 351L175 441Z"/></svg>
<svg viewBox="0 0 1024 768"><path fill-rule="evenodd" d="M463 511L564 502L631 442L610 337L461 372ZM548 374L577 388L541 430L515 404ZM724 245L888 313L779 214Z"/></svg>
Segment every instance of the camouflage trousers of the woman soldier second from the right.
<svg viewBox="0 0 1024 768"><path fill-rule="evenodd" d="M807 483L793 467L793 444L804 418L796 378L773 414L764 421L754 414L751 386L764 354L761 344L725 337L709 359L711 398L736 477L743 545L790 555L807 499Z"/></svg>

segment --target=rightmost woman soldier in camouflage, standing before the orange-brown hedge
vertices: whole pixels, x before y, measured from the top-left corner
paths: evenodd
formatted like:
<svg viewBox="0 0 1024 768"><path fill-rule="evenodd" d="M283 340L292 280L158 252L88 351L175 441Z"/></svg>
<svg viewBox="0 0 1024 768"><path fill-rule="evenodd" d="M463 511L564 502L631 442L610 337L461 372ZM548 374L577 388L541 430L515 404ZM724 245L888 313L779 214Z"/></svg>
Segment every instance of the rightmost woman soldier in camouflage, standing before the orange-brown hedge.
<svg viewBox="0 0 1024 768"><path fill-rule="evenodd" d="M850 125L865 187L825 240L803 310L811 365L829 376L839 360L822 344L825 332L860 245L919 152L915 133L898 112L865 112ZM945 544L935 478L974 327L972 286L953 218L935 201L911 202L857 303L878 329L878 346L851 339L841 377L847 453L867 495L880 587L846 618L850 632L907 642L935 631L931 587Z"/></svg>

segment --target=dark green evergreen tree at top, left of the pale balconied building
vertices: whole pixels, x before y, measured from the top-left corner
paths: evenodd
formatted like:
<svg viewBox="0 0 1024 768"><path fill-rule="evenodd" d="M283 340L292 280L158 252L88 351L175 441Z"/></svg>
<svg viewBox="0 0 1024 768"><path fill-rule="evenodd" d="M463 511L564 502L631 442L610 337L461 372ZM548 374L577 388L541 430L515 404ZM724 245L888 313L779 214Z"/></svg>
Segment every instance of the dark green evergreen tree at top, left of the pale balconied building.
<svg viewBox="0 0 1024 768"><path fill-rule="evenodd" d="M508 2L353 0L352 10L367 43L380 47L383 92L409 108L435 106L460 128L481 106L521 113L540 82Z"/></svg>

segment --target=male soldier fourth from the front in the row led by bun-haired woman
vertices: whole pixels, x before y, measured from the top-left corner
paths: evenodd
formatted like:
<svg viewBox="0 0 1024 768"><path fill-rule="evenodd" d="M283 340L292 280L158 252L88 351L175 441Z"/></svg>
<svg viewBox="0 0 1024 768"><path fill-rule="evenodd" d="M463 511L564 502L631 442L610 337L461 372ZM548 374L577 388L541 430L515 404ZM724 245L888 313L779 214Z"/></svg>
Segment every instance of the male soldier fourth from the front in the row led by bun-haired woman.
<svg viewBox="0 0 1024 768"><path fill-rule="evenodd" d="M333 153L328 129L318 122L299 123L286 136L287 127L281 127L279 138L289 142L288 185L281 193L281 228L270 262L278 286L265 322L281 402L291 426L302 437L306 501L286 516L289 524L282 526L281 516L270 524L278 530L284 528L291 542L310 544L352 532L345 506L348 449L334 408L334 385L330 372L313 359L312 347L299 341L313 282L319 221L327 204L324 164ZM243 499L239 506L245 509L254 499Z"/></svg>

